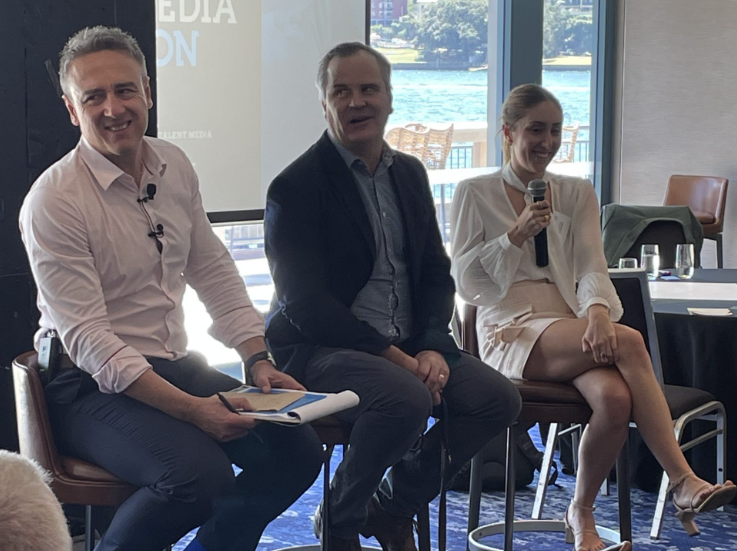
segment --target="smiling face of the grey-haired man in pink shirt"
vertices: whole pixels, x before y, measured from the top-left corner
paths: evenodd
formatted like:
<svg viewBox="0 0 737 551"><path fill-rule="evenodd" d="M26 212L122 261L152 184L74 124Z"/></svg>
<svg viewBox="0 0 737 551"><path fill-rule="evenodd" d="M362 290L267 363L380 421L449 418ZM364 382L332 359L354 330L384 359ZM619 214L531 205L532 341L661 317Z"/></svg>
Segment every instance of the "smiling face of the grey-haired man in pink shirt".
<svg viewBox="0 0 737 551"><path fill-rule="evenodd" d="M149 79L132 57L103 50L69 64L64 103L89 144L122 170L140 161L148 110Z"/></svg>

